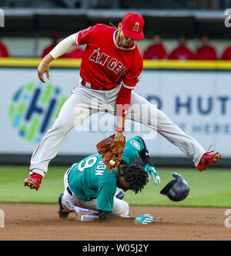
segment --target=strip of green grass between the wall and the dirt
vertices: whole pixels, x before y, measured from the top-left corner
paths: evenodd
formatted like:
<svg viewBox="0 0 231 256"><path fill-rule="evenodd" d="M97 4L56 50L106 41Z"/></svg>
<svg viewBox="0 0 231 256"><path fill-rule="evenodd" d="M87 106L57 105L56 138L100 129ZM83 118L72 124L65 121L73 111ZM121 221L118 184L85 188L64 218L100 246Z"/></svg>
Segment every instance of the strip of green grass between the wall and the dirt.
<svg viewBox="0 0 231 256"><path fill-rule="evenodd" d="M0 203L45 203L55 204L64 189L63 176L67 167L49 167L39 191L24 187L28 177L26 167L0 167ZM139 194L127 191L124 199L130 205L184 206L184 207L231 207L231 170L210 169L199 173L196 169L158 168L161 184L154 181ZM190 187L189 197L181 202L172 202L159 191L170 180L172 172L180 173Z"/></svg>

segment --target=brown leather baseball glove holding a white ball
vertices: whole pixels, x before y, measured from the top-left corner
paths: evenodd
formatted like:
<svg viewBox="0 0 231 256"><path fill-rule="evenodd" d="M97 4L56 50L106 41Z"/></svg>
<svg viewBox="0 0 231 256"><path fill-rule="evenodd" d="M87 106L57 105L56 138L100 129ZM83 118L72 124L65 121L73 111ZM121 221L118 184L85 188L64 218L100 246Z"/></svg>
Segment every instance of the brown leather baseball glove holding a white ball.
<svg viewBox="0 0 231 256"><path fill-rule="evenodd" d="M115 141L115 134L113 134L96 145L98 152L102 155L105 166L110 170L109 173L112 173L112 170L119 166L122 159L122 152L126 146L125 136L123 138L124 140L122 141Z"/></svg>

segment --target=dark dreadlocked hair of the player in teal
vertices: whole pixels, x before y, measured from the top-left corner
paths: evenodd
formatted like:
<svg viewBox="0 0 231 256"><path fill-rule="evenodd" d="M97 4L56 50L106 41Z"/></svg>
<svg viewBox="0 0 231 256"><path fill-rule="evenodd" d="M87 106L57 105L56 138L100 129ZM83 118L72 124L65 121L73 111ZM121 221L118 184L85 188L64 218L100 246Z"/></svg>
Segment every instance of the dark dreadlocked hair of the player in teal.
<svg viewBox="0 0 231 256"><path fill-rule="evenodd" d="M146 170L140 165L125 165L122 167L123 176L130 184L129 189L136 194L142 190L148 182Z"/></svg>

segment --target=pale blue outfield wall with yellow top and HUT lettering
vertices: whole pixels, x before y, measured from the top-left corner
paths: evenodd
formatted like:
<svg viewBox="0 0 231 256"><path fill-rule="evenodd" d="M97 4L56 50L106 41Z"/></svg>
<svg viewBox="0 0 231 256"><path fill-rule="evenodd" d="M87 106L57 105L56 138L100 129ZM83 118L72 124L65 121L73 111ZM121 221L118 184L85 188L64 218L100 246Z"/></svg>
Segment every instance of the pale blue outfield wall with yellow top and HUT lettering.
<svg viewBox="0 0 231 256"><path fill-rule="evenodd" d="M39 82L40 59L0 59L1 142L0 163L28 157L59 114L79 79L79 59L52 62L50 81ZM135 92L156 104L205 150L213 144L229 165L231 135L231 62L145 61ZM101 113L75 127L62 143L57 163L70 156L95 153L95 144L113 133L114 116ZM152 157L165 165L191 164L183 153L159 134L139 123L126 121L127 139L146 139ZM23 158L25 157L26 158ZM71 157L72 158L72 157ZM21 160L20 160L21 159ZM16 161L17 162L17 161ZM224 163L225 163L224 162Z"/></svg>

